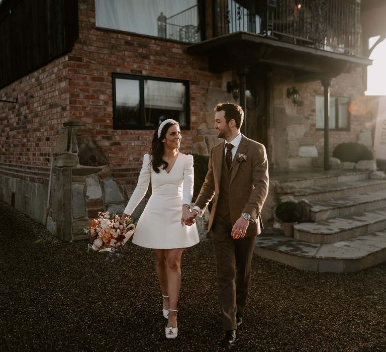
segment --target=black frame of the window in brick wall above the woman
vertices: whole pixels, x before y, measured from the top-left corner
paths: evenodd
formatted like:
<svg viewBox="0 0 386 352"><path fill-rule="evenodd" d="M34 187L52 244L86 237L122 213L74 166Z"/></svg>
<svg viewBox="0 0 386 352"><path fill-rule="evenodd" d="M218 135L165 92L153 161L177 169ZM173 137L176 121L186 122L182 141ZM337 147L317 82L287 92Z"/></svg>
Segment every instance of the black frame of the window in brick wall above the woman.
<svg viewBox="0 0 386 352"><path fill-rule="evenodd" d="M116 79L131 79L139 81L139 101L140 101L140 117L141 125L131 125L131 126L122 126L117 125L115 115L117 110L117 101L116 101ZM180 126L181 130L190 130L190 94L189 94L189 80L186 79L175 79L175 78L164 78L164 77L154 77L154 76L143 76L137 74L127 74L127 73L112 73L112 84L113 84L113 129L114 130L154 130L154 126L145 125L145 92L144 92L144 81L145 80L157 80L161 82L174 82L182 83L185 86L185 120L186 125Z"/></svg>

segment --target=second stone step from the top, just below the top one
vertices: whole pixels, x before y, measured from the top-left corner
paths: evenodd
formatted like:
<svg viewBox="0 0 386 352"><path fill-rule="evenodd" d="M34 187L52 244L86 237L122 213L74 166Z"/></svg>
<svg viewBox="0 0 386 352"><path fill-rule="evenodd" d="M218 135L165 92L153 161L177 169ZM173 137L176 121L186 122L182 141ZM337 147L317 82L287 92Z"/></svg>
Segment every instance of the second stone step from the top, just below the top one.
<svg viewBox="0 0 386 352"><path fill-rule="evenodd" d="M386 189L386 180L361 180L299 188L294 198L296 200L307 199L309 202L312 202L376 192L384 189Z"/></svg>

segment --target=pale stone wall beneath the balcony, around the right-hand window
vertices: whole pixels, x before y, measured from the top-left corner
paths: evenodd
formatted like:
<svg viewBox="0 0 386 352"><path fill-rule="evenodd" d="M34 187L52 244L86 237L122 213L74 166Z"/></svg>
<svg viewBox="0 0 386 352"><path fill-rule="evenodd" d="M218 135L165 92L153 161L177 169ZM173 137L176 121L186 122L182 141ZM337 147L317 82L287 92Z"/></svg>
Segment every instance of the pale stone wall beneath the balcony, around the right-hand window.
<svg viewBox="0 0 386 352"><path fill-rule="evenodd" d="M286 89L296 86L299 102L294 106L286 97ZM290 70L273 69L268 75L271 92L268 155L274 168L304 168L312 159L323 156L324 132L316 129L316 95L323 94L320 81L296 83ZM363 98L363 72L357 68L332 79L331 96L347 97L352 104ZM362 142L371 147L372 115L353 109L347 131L330 130L329 154L342 142Z"/></svg>

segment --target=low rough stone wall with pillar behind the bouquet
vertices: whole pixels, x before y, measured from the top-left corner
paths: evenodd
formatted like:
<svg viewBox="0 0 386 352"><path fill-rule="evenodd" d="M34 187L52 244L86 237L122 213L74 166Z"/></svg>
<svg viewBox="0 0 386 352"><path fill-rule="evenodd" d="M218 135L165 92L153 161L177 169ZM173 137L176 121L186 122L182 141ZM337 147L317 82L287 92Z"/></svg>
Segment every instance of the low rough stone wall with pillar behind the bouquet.
<svg viewBox="0 0 386 352"><path fill-rule="evenodd" d="M84 124L67 122L58 131L47 228L61 240L88 237L83 229L99 212L122 215L126 206L108 158Z"/></svg>

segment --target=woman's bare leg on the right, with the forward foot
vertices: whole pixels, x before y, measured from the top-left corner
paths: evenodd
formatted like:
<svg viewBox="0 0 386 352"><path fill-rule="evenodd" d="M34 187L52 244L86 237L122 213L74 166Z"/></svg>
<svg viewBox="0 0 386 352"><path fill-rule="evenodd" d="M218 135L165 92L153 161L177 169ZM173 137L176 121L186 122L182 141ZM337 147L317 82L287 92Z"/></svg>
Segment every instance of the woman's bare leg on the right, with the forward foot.
<svg viewBox="0 0 386 352"><path fill-rule="evenodd" d="M179 289L181 287L182 248L165 249L168 279L169 309L177 309ZM177 327L176 312L169 311L168 327Z"/></svg>

